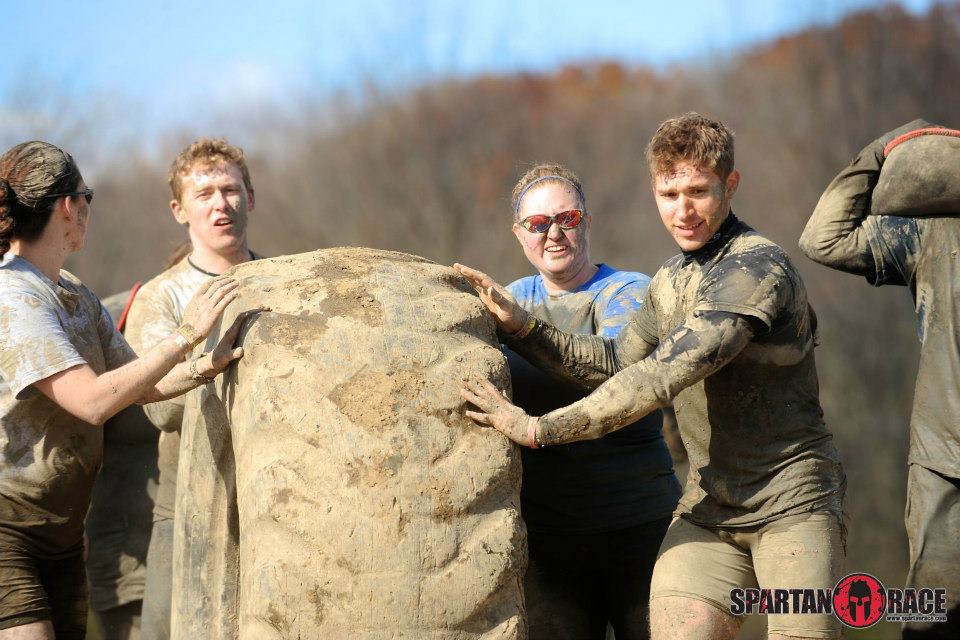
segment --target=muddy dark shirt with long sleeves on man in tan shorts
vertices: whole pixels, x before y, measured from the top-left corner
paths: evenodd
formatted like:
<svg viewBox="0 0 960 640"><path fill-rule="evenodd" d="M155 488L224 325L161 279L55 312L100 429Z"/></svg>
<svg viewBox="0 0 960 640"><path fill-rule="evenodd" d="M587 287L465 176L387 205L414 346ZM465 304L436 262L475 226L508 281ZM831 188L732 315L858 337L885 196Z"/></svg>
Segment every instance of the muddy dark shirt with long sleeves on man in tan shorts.
<svg viewBox="0 0 960 640"><path fill-rule="evenodd" d="M541 438L593 437L672 400L690 456L678 514L709 526L839 514L845 478L823 423L813 322L783 250L730 214L708 245L664 264L616 341L548 325L520 341L603 382L541 418Z"/></svg>

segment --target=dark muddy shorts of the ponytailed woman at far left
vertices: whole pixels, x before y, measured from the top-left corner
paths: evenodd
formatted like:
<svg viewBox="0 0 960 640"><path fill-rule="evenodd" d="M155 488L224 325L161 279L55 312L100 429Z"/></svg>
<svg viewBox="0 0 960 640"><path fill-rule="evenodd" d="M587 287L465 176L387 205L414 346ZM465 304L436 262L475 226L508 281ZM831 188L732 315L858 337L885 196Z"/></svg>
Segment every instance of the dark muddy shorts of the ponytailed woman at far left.
<svg viewBox="0 0 960 640"><path fill-rule="evenodd" d="M49 620L57 640L83 640L87 577L83 548L56 560L0 539L0 629Z"/></svg>

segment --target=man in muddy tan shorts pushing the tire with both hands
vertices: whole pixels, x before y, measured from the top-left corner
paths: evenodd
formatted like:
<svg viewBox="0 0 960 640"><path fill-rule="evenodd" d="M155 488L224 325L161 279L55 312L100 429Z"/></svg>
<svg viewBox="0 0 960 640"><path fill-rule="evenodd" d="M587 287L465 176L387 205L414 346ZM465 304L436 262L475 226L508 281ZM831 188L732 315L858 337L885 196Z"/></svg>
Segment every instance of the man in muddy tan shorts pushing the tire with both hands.
<svg viewBox="0 0 960 640"><path fill-rule="evenodd" d="M598 438L673 401L690 472L654 569L652 637L733 638L732 589L829 589L841 577L845 477L823 423L803 282L730 211L732 133L697 114L672 118L647 158L682 253L616 340L562 333L461 267L512 348L597 389L540 418L483 382L468 381L464 398L480 409L470 417L532 447ZM772 638L840 636L830 614L767 623Z"/></svg>

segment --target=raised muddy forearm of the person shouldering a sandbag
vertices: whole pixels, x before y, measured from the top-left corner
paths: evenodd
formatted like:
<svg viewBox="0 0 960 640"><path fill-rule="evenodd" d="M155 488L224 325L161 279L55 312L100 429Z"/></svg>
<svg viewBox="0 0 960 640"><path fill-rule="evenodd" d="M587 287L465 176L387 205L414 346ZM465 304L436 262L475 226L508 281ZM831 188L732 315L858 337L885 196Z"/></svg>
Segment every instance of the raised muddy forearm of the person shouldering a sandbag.
<svg viewBox="0 0 960 640"><path fill-rule="evenodd" d="M873 142L830 183L800 236L800 249L822 265L870 275L873 254L862 228L883 165L883 145Z"/></svg>

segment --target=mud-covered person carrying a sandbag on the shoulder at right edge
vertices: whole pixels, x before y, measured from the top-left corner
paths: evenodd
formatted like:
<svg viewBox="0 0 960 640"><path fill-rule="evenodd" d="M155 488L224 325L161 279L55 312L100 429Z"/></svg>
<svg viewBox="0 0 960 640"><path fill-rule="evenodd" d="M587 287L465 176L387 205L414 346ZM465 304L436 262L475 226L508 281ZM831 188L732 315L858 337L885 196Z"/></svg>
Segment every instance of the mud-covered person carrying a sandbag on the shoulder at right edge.
<svg viewBox="0 0 960 640"><path fill-rule="evenodd" d="M926 126L914 121L867 145L821 196L800 248L872 285L910 287L921 347L910 419L907 586L945 587L947 621L908 623L903 637L960 638L960 218L868 215L884 147ZM960 157L951 169L958 165Z"/></svg>

